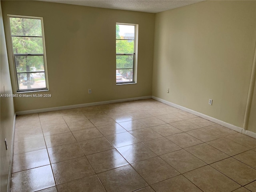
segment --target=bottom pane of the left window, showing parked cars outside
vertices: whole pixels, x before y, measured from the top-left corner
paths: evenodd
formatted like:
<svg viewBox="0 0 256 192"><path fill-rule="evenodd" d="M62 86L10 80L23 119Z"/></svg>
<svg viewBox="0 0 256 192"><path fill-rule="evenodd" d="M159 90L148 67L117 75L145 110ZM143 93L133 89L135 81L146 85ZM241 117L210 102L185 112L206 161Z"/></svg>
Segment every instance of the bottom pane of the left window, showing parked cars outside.
<svg viewBox="0 0 256 192"><path fill-rule="evenodd" d="M45 74L40 73L19 73L18 89L40 89L46 88Z"/></svg>

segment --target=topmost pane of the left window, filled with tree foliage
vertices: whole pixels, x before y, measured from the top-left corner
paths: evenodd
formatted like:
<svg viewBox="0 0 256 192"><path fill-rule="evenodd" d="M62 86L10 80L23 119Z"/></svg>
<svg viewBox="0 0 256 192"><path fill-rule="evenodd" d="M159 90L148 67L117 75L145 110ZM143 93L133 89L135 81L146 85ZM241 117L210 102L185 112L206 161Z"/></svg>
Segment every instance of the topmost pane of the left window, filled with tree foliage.
<svg viewBox="0 0 256 192"><path fill-rule="evenodd" d="M10 18L12 35L18 36L42 36L40 19Z"/></svg>

